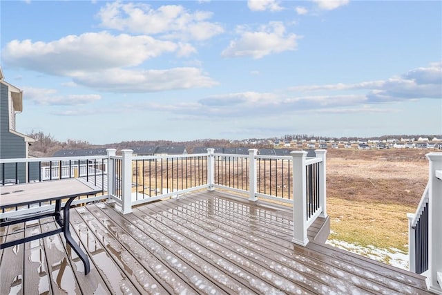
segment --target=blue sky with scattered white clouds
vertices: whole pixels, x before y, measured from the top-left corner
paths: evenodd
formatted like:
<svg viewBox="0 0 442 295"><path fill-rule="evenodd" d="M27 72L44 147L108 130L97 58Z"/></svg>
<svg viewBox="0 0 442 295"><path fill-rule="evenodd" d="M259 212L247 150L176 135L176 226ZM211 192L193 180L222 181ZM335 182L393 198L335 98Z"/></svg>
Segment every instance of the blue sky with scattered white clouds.
<svg viewBox="0 0 442 295"><path fill-rule="evenodd" d="M1 1L17 131L442 134L442 1Z"/></svg>

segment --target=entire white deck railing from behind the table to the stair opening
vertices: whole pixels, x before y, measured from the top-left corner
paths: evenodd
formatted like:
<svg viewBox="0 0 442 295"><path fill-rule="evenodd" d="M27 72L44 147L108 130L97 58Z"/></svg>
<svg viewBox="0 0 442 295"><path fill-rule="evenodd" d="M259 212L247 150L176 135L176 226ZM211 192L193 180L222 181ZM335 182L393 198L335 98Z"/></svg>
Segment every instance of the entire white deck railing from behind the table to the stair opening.
<svg viewBox="0 0 442 295"><path fill-rule="evenodd" d="M289 156L207 153L193 155L162 155L133 157L132 150L108 149L107 155L95 157L59 157L0 160L1 179L12 183L50 181L84 177L102 187L104 196L75 200L116 202L122 213L130 213L137 204L164 198L178 197L198 189L223 189L245 193L249 200L271 199L292 205L294 214L293 241L307 245L307 228L325 211L325 154L317 150L316 158L307 158L307 152L294 151ZM89 180L90 178L90 180ZM97 184L97 182L99 182ZM11 208L0 213L9 218L38 211L37 208Z"/></svg>

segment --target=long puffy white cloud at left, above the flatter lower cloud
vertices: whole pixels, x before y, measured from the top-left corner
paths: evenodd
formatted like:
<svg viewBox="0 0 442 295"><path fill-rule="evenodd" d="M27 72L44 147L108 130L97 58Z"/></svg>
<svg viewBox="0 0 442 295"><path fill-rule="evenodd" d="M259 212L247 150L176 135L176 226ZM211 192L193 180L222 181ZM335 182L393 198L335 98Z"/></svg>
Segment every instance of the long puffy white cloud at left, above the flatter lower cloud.
<svg viewBox="0 0 442 295"><path fill-rule="evenodd" d="M2 55L10 66L75 77L108 68L137 66L178 48L182 46L149 36L88 32L48 43L13 40L3 48Z"/></svg>

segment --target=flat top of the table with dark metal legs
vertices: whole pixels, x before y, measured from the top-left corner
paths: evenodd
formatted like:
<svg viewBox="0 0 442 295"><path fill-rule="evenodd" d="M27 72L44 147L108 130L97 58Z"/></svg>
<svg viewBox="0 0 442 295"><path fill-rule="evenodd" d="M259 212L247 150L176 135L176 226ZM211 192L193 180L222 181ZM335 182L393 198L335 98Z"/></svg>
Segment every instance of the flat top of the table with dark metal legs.
<svg viewBox="0 0 442 295"><path fill-rule="evenodd" d="M101 188L80 178L15 184L0 187L0 208L94 195L102 191Z"/></svg>

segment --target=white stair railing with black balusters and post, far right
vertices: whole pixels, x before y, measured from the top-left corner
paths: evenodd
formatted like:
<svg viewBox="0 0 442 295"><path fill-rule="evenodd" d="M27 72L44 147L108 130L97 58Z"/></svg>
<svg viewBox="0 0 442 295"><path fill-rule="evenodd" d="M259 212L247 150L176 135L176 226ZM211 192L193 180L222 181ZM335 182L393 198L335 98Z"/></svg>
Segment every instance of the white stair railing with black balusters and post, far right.
<svg viewBox="0 0 442 295"><path fill-rule="evenodd" d="M428 153L429 177L415 213L407 213L410 271L442 294L442 153Z"/></svg>

